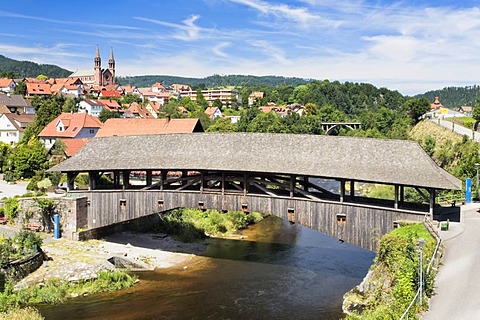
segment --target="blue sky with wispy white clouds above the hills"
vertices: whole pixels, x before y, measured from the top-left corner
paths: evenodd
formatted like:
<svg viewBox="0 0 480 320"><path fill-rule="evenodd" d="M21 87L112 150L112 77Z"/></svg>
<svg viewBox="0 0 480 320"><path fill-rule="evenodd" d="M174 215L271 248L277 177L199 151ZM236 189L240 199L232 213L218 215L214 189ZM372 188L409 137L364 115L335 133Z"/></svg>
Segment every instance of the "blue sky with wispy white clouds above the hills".
<svg viewBox="0 0 480 320"><path fill-rule="evenodd" d="M413 95L480 84L480 1L16 0L0 54L117 75L279 75Z"/></svg>

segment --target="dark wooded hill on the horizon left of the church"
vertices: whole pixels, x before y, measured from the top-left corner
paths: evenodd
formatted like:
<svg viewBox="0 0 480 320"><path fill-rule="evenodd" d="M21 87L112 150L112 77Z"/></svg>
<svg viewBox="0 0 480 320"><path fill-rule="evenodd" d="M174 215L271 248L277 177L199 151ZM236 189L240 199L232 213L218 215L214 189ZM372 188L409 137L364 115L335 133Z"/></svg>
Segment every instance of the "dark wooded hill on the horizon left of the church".
<svg viewBox="0 0 480 320"><path fill-rule="evenodd" d="M40 74L49 78L65 78L72 74L52 64L38 64L31 61L18 61L0 55L0 74L13 72L15 78L35 78Z"/></svg>

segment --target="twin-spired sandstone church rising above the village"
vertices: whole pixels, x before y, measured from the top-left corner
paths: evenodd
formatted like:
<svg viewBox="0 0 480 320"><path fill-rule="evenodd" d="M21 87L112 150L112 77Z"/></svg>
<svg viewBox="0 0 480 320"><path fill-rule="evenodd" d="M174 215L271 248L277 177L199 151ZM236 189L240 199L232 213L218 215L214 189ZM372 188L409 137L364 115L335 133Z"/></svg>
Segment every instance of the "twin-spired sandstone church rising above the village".
<svg viewBox="0 0 480 320"><path fill-rule="evenodd" d="M115 85L115 58L113 49L110 50L110 59L108 59L108 69L102 69L102 59L100 58L100 49L97 46L95 54L94 67L92 70L77 70L69 78L79 78L87 86L109 86Z"/></svg>

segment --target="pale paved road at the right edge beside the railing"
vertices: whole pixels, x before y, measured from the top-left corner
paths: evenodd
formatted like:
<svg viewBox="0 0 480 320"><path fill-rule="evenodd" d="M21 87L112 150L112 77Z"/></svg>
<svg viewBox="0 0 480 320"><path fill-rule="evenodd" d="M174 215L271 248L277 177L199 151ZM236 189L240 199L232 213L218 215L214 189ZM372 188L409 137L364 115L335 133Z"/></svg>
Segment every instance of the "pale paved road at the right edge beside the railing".
<svg viewBox="0 0 480 320"><path fill-rule="evenodd" d="M480 204L462 206L461 221L441 231L445 254L424 320L480 319Z"/></svg>

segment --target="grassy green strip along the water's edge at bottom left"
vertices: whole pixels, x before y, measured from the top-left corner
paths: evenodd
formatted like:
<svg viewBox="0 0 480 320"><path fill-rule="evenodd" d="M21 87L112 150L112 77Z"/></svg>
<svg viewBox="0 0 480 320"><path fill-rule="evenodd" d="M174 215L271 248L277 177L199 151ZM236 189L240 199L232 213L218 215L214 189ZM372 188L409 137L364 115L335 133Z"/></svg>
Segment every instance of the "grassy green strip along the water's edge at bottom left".
<svg viewBox="0 0 480 320"><path fill-rule="evenodd" d="M26 315L31 314L32 318L27 319L37 319L32 305L59 304L69 297L126 289L135 281L136 277L125 271L101 271L96 279L75 283L54 278L20 290L14 290L13 284L7 283L0 293L0 319L12 319L9 315L18 313L19 310Z"/></svg>

